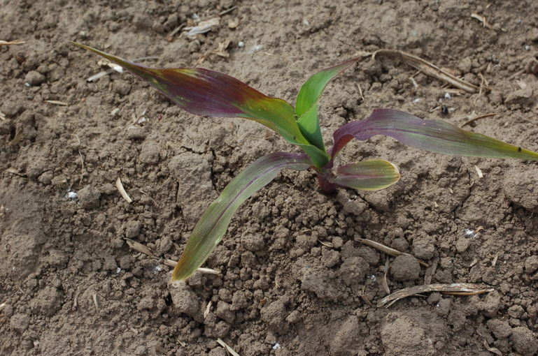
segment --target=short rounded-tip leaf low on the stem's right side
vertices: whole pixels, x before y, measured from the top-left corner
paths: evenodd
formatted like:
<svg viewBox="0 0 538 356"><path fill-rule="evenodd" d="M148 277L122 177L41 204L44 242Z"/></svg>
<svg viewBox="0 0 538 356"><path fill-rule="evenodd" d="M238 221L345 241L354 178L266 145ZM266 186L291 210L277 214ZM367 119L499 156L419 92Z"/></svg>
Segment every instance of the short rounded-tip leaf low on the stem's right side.
<svg viewBox="0 0 538 356"><path fill-rule="evenodd" d="M333 169L329 181L361 191L377 191L392 186L399 180L396 165L381 159L361 161Z"/></svg>

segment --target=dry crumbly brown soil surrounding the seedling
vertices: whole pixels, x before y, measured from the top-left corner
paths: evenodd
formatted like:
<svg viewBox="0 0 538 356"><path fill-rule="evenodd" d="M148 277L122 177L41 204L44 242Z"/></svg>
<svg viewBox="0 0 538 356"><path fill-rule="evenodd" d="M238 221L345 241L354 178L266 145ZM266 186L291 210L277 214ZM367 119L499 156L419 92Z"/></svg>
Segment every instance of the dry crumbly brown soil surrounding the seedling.
<svg viewBox="0 0 538 356"><path fill-rule="evenodd" d="M496 112L469 128L538 150L537 1L90 3L0 2L0 39L27 41L0 47L0 355L225 355L218 338L241 356L537 352L535 163L427 154L383 137L350 144L346 161L389 159L402 180L325 196L311 172L284 171L239 209L206 262L220 274L172 288L163 261L178 258L208 203L255 158L292 148L251 121L187 114L127 73L88 83L99 58L68 43L170 67L231 40L228 58L201 66L290 102L308 75L358 51L405 50L492 90L445 96L437 80L365 57L323 96L327 143L341 124L393 107L458 126ZM169 38L195 14L232 6L207 34ZM438 261L434 283L495 291L378 309L387 258L392 291L424 283L426 269L359 238Z"/></svg>

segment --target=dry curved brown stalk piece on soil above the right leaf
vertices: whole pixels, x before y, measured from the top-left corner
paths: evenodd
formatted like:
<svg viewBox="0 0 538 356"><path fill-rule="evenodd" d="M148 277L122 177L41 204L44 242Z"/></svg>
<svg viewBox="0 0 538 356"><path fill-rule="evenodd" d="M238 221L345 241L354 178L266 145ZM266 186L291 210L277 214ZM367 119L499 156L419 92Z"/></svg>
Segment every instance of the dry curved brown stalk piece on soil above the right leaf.
<svg viewBox="0 0 538 356"><path fill-rule="evenodd" d="M480 87L477 87L474 84L466 82L465 80L462 80L455 75L444 71L443 69L439 68L438 66L435 66L434 64L430 63L429 61L426 61L425 59L413 56L413 54L398 50L378 50L374 52L371 57L373 59L376 59L378 57L399 59L405 64L409 64L409 66L418 69L418 71L421 71L425 75L430 75L430 77L442 80L443 82L451 84L453 87L467 91L467 93L474 94L478 93L480 90Z"/></svg>

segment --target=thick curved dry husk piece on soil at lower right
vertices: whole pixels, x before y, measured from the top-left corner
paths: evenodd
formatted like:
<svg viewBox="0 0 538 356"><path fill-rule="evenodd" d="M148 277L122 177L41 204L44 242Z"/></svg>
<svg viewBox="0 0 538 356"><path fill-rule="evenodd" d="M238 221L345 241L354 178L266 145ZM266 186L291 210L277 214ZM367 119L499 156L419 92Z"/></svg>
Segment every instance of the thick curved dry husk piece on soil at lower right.
<svg viewBox="0 0 538 356"><path fill-rule="evenodd" d="M397 302L399 299L427 292L440 292L449 295L477 295L486 292L492 292L493 290L493 288L481 288L479 285L471 283L439 283L415 285L414 287L404 288L392 293L391 295L387 295L378 302L377 306L388 308L389 306Z"/></svg>

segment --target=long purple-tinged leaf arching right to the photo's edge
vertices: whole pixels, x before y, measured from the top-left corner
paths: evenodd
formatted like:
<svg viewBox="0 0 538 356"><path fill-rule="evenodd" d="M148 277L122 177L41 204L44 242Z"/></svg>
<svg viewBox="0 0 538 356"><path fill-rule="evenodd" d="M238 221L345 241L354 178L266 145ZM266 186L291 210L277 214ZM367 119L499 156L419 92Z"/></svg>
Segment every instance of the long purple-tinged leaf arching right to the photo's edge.
<svg viewBox="0 0 538 356"><path fill-rule="evenodd" d="M392 109L375 110L368 119L353 121L334 131L332 158L353 138L368 140L386 135L418 149L455 156L520 158L538 160L538 154L490 138L481 133L462 130L441 120L424 120ZM332 165L332 160L327 166Z"/></svg>

